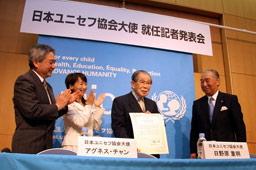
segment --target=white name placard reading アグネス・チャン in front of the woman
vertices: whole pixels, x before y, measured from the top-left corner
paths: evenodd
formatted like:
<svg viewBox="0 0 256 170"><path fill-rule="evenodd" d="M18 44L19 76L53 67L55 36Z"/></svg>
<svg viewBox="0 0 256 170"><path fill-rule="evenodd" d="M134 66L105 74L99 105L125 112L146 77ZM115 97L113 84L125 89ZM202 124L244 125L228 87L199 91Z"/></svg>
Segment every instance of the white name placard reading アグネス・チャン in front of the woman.
<svg viewBox="0 0 256 170"><path fill-rule="evenodd" d="M78 137L79 156L137 158L135 139Z"/></svg>

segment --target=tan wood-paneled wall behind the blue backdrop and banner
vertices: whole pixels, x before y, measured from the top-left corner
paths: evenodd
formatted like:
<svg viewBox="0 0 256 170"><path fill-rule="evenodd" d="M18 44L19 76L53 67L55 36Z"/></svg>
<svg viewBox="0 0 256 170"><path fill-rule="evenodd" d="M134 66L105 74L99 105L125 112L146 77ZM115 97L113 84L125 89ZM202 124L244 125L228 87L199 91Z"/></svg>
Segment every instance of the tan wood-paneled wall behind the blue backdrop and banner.
<svg viewBox="0 0 256 170"><path fill-rule="evenodd" d="M77 0L79 1L79 0ZM80 0L122 7L114 0ZM193 2L193 3L192 3ZM15 130L12 104L13 85L18 75L28 70L27 52L37 42L37 35L20 33L25 0L0 1L0 149L11 147ZM254 0L127 0L125 7L162 15L204 21L213 24L256 31ZM203 96L200 73L214 68L221 75L220 90L238 95L247 127L247 140L251 153L256 153L254 96L256 90L256 35L211 27L213 56L194 54L196 98ZM223 122L224 123L224 122Z"/></svg>

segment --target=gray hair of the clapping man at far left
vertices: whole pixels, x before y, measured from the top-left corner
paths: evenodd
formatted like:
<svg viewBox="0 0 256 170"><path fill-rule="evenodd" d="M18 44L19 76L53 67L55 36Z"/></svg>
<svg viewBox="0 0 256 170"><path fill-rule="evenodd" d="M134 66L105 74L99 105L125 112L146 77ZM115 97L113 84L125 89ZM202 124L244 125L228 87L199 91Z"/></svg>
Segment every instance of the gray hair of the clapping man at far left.
<svg viewBox="0 0 256 170"><path fill-rule="evenodd" d="M28 53L28 61L29 61L29 67L34 68L33 61L42 62L46 55L52 52L55 55L54 48L50 47L46 44L37 44L34 45Z"/></svg>

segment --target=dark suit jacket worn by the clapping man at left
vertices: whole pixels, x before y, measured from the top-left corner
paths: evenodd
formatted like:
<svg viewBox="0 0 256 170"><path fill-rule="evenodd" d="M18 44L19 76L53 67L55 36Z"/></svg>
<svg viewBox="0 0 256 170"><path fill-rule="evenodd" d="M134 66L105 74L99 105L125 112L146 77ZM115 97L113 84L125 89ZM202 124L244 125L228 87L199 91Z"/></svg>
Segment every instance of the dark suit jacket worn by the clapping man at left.
<svg viewBox="0 0 256 170"><path fill-rule="evenodd" d="M21 75L14 85L14 109L16 129L12 140L12 151L36 154L52 148L55 120L67 112L58 112L54 104L52 87L47 84L53 104L39 77L32 71Z"/></svg>

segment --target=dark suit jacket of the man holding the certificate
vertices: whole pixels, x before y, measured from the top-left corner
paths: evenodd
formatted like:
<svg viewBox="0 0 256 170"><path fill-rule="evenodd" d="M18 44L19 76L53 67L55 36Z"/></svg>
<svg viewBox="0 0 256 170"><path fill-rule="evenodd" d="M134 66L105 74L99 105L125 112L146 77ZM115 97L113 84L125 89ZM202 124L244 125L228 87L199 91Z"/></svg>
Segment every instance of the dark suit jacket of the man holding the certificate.
<svg viewBox="0 0 256 170"><path fill-rule="evenodd" d="M156 103L153 100L144 98L147 111L159 113ZM112 130L118 138L134 138L132 123L129 113L143 112L132 92L114 99L112 105Z"/></svg>

